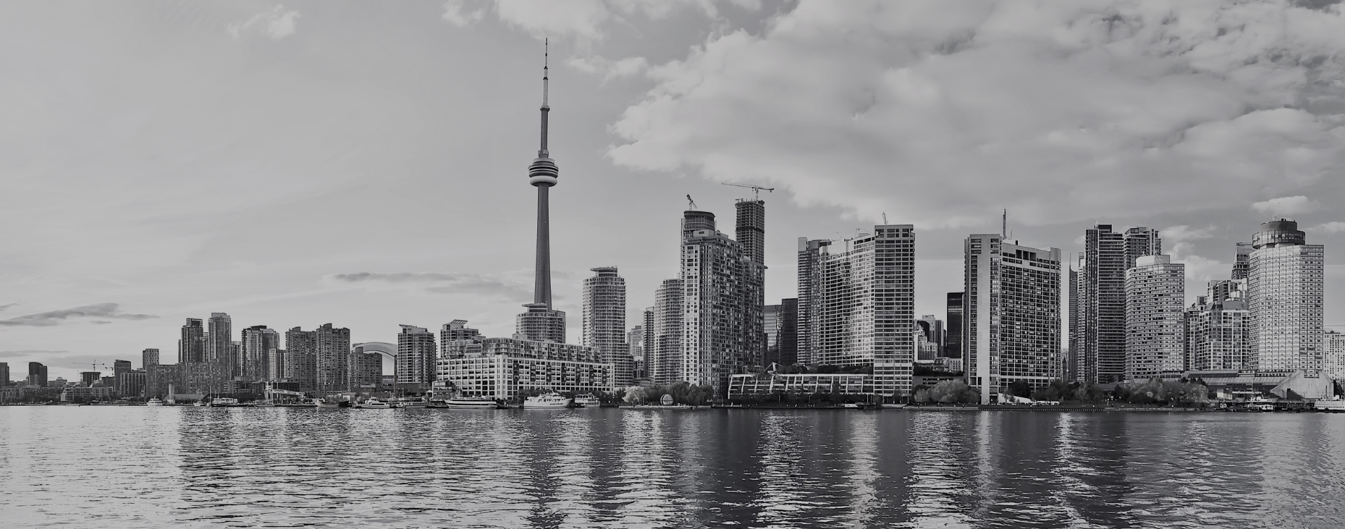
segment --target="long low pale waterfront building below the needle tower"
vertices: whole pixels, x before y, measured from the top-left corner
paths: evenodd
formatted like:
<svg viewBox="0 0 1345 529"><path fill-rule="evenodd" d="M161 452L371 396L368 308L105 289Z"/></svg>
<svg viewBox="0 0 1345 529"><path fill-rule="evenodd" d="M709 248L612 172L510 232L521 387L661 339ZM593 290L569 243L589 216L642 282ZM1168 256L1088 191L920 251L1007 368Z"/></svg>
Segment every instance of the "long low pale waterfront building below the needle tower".
<svg viewBox="0 0 1345 529"><path fill-rule="evenodd" d="M463 396L516 399L525 391L612 391L612 367L590 346L518 338L472 338L440 354L440 384Z"/></svg>

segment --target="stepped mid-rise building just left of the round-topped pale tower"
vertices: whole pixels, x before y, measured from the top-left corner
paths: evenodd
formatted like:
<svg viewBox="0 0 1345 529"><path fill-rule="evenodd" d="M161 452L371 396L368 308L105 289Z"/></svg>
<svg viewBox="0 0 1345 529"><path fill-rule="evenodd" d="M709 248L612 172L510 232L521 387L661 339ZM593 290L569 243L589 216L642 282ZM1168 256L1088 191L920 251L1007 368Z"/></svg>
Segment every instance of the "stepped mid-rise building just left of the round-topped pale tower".
<svg viewBox="0 0 1345 529"><path fill-rule="evenodd" d="M1210 281L1208 289L1186 310L1186 369L1247 369L1247 279Z"/></svg>

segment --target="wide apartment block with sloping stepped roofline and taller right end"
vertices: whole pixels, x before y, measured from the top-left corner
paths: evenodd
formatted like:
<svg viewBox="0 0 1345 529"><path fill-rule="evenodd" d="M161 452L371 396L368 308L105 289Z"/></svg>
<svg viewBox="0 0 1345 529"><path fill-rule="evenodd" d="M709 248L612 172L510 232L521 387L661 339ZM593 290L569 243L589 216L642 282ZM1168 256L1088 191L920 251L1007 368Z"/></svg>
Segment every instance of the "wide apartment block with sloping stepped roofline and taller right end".
<svg viewBox="0 0 1345 529"><path fill-rule="evenodd" d="M838 251L830 242L799 240L799 326L803 334L808 320L812 365L872 367L874 393L911 392L915 244L911 224L874 226Z"/></svg>

